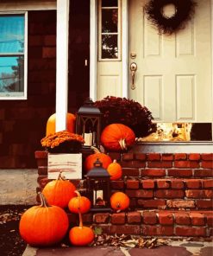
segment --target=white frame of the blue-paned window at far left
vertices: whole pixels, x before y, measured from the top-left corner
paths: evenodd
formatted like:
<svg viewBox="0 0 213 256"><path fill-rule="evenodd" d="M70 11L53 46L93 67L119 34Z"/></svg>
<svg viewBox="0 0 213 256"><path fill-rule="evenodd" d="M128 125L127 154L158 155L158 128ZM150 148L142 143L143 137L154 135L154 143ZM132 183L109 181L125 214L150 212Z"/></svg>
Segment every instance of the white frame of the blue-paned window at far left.
<svg viewBox="0 0 213 256"><path fill-rule="evenodd" d="M24 15L24 89L23 89L23 93L3 93L2 96L0 93L0 99L6 99L6 100L10 100L10 99L28 99L28 12L27 11L9 11L9 12L3 12L0 11L0 16L1 15L20 15L23 14ZM1 54L1 56L3 56L4 54ZM9 55L9 54L5 54L5 55ZM11 54L12 56L13 54Z"/></svg>

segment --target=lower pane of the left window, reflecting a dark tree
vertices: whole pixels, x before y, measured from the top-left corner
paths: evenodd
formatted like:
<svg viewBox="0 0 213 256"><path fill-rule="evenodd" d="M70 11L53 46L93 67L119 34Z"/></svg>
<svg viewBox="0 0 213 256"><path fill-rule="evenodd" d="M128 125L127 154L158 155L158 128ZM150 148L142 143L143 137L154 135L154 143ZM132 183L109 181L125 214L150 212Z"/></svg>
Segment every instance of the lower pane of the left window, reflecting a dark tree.
<svg viewBox="0 0 213 256"><path fill-rule="evenodd" d="M0 93L23 92L24 57L0 57Z"/></svg>

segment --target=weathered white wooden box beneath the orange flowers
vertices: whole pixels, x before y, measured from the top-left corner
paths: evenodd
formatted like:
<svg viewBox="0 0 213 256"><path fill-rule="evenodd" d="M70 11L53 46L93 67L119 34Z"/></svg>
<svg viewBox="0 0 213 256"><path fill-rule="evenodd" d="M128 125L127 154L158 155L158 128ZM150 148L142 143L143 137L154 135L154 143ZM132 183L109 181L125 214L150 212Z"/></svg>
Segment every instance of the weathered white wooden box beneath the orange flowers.
<svg viewBox="0 0 213 256"><path fill-rule="evenodd" d="M82 179L82 154L48 154L48 179Z"/></svg>

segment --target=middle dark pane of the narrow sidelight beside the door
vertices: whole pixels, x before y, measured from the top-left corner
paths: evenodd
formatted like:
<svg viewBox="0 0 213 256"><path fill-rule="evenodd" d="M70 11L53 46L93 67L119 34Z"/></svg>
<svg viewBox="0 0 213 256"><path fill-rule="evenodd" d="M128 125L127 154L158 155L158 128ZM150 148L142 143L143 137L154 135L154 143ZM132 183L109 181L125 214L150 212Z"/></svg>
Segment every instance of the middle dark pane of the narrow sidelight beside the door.
<svg viewBox="0 0 213 256"><path fill-rule="evenodd" d="M117 9L102 11L102 32L117 32Z"/></svg>

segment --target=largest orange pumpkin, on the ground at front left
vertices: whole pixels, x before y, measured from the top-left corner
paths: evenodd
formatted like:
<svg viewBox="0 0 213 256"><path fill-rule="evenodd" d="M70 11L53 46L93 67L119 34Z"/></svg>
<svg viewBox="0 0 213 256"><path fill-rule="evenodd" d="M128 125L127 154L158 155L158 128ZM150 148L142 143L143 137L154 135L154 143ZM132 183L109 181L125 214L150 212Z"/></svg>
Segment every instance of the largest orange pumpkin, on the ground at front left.
<svg viewBox="0 0 213 256"><path fill-rule="evenodd" d="M22 214L19 232L30 246L51 246L64 238L69 227L66 212L57 206L49 206L41 192L40 206L33 206Z"/></svg>

